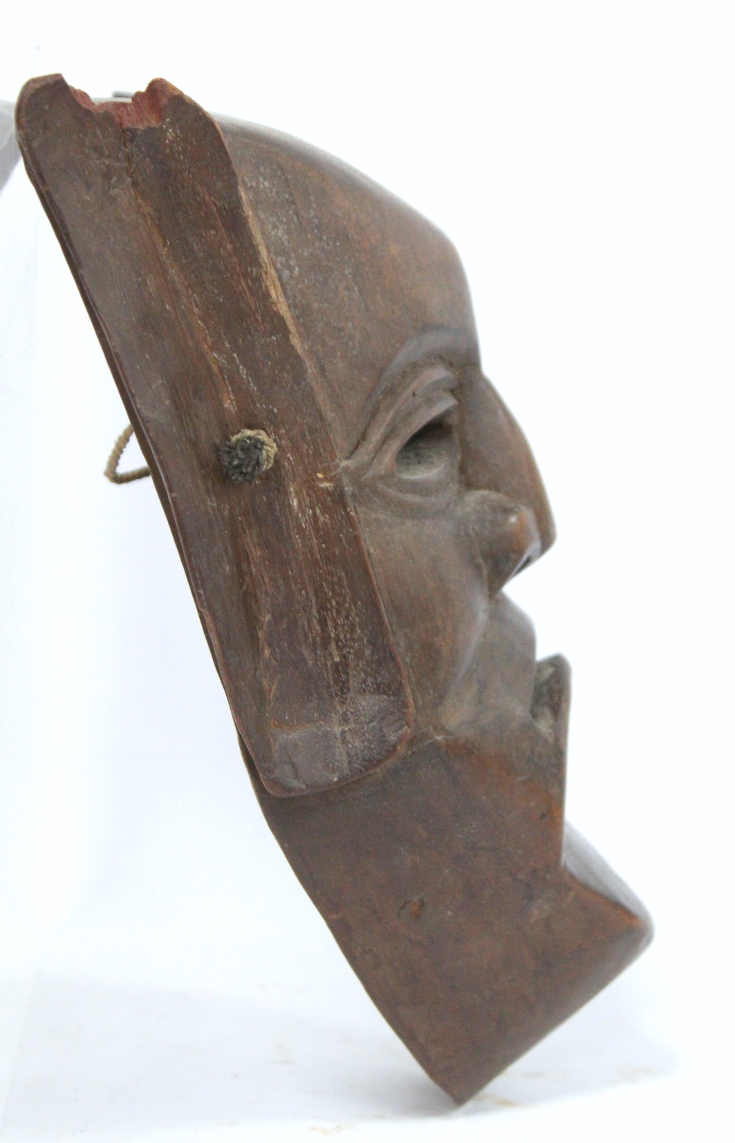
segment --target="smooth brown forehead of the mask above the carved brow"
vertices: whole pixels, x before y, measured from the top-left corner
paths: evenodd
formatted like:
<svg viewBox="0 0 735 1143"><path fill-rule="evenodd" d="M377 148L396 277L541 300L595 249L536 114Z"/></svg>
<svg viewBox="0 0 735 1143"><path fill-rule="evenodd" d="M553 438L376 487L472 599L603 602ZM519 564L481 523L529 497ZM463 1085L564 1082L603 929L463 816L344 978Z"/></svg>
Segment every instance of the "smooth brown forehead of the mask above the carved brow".
<svg viewBox="0 0 735 1143"><path fill-rule="evenodd" d="M217 121L346 456L383 370L409 339L437 326L474 339L462 264L422 215L338 160Z"/></svg>

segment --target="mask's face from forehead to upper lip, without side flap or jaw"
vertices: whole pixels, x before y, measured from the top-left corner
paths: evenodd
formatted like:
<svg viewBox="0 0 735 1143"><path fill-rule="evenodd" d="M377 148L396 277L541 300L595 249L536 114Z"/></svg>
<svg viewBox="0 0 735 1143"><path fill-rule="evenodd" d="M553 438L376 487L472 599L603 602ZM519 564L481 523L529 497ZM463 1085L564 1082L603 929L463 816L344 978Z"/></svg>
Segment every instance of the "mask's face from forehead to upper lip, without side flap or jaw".
<svg viewBox="0 0 735 1143"><path fill-rule="evenodd" d="M342 163L221 126L318 363L418 725L527 714L533 629L500 592L549 546L553 522L522 433L482 376L454 247Z"/></svg>

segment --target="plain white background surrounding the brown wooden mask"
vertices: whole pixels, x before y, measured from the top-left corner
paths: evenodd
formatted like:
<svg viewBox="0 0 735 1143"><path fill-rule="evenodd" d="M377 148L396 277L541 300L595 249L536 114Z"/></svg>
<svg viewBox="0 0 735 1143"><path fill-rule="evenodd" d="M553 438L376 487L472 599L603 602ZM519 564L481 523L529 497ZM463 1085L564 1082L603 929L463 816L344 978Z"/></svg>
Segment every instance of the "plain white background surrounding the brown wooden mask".
<svg viewBox="0 0 735 1143"><path fill-rule="evenodd" d="M102 479L125 413L18 167L0 195L0 1138L729 1137L732 6L14 8L0 97L54 71L95 96L163 75L454 240L559 529L512 594L538 654L574 668L568 816L657 936L468 1106L423 1076L261 820L150 481Z"/></svg>

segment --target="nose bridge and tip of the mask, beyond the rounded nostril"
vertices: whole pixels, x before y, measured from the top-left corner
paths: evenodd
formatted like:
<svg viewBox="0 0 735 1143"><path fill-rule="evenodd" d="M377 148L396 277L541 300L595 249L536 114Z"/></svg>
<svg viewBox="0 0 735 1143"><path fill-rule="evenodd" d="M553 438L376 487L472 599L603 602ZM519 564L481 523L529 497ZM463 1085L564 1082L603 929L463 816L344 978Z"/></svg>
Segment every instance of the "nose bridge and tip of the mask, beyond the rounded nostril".
<svg viewBox="0 0 735 1143"><path fill-rule="evenodd" d="M462 471L468 488L497 493L535 520L537 555L556 539L551 507L528 441L490 382L479 371L462 387ZM535 559L536 557L534 557Z"/></svg>

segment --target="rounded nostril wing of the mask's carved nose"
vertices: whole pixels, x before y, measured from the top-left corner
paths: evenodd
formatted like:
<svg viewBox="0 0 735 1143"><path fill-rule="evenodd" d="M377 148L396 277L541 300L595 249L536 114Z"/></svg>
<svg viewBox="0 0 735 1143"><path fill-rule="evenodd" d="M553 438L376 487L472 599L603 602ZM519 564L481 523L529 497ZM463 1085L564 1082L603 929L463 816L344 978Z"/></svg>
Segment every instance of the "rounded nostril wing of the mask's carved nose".
<svg viewBox="0 0 735 1143"><path fill-rule="evenodd" d="M502 493L472 490L462 497L461 512L487 568L490 594L541 555L536 518L525 504Z"/></svg>

